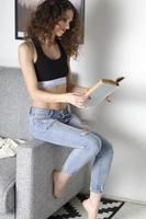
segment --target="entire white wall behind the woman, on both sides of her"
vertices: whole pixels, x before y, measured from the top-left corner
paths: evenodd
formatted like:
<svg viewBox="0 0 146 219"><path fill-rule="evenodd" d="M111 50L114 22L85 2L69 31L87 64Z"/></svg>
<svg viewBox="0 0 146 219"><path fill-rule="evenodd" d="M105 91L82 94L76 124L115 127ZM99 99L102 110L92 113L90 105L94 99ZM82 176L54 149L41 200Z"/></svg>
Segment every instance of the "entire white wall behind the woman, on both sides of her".
<svg viewBox="0 0 146 219"><path fill-rule="evenodd" d="M0 3L0 66L18 66L14 1ZM105 194L146 203L146 1L86 0L86 35L71 62L81 85L125 76L111 104L79 111L113 143Z"/></svg>

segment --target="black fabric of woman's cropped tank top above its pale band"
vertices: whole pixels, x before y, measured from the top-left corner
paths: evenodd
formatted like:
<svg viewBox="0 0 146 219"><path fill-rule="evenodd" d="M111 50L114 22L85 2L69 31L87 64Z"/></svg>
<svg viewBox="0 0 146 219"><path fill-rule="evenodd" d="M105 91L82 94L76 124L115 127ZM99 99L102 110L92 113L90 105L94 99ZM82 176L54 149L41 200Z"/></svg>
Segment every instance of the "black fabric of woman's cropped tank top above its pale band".
<svg viewBox="0 0 146 219"><path fill-rule="evenodd" d="M44 54L40 42L36 39L32 41L34 43L37 53L37 60L34 62L37 81L49 81L67 77L68 74L67 55L60 42L57 41L60 49L60 57L58 59L50 59L48 56Z"/></svg>

